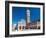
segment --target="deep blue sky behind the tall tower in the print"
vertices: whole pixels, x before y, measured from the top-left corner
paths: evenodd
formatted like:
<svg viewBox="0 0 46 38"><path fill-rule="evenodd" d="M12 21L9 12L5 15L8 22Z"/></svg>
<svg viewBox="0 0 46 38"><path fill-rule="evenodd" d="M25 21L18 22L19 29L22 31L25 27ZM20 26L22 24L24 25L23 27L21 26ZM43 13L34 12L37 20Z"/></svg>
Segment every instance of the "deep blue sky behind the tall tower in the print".
<svg viewBox="0 0 46 38"><path fill-rule="evenodd" d="M26 20L27 7L12 7L12 23L17 23L20 19ZM40 8L29 7L30 21L40 19Z"/></svg>

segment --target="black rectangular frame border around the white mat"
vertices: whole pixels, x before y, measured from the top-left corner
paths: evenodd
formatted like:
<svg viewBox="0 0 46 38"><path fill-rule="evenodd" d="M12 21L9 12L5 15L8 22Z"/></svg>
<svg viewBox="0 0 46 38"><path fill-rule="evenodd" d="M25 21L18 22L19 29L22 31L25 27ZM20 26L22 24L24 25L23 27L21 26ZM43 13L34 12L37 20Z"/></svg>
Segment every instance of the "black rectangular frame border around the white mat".
<svg viewBox="0 0 46 38"><path fill-rule="evenodd" d="M43 5L43 33L9 35L9 3ZM45 4L40 2L5 1L5 37L37 36L45 34Z"/></svg>

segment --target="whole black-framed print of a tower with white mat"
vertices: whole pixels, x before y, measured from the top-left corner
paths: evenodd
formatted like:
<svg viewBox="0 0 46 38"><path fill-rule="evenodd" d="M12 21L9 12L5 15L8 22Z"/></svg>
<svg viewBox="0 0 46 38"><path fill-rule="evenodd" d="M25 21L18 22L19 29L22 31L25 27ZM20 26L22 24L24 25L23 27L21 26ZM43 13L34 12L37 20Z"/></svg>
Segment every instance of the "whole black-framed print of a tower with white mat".
<svg viewBox="0 0 46 38"><path fill-rule="evenodd" d="M5 1L5 36L45 34L44 3Z"/></svg>

